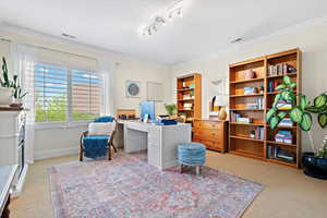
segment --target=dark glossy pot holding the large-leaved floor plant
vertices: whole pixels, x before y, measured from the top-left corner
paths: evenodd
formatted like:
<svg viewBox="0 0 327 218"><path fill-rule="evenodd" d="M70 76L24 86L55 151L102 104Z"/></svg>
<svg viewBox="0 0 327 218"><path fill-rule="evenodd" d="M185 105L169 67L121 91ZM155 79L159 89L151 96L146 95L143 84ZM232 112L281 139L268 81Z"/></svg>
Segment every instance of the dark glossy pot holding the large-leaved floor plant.
<svg viewBox="0 0 327 218"><path fill-rule="evenodd" d="M304 153L302 157L304 174L327 180L327 158L318 158L314 153Z"/></svg>

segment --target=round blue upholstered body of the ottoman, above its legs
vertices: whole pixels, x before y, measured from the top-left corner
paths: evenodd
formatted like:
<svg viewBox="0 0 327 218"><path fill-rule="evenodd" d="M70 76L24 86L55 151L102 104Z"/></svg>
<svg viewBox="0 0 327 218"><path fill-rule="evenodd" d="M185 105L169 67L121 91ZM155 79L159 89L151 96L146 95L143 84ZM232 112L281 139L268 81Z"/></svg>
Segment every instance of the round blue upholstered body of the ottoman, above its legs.
<svg viewBox="0 0 327 218"><path fill-rule="evenodd" d="M206 146L201 143L179 145L178 161L184 166L204 166L206 162Z"/></svg>

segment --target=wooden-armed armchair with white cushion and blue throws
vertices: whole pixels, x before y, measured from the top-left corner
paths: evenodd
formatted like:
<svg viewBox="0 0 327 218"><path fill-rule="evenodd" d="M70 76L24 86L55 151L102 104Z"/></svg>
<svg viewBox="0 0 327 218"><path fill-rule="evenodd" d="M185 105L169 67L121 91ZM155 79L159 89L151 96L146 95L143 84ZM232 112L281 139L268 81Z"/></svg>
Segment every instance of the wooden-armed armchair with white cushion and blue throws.
<svg viewBox="0 0 327 218"><path fill-rule="evenodd" d="M100 123L98 129L97 124L88 125L88 131L82 133L80 138L80 161L83 157L99 158L105 157L108 152L108 159L111 160L111 147L114 153L117 148L113 145L113 137L116 135L116 119L113 117L100 117L93 121L93 123ZM102 123L102 124L101 124ZM112 125L105 125L104 123L112 123Z"/></svg>

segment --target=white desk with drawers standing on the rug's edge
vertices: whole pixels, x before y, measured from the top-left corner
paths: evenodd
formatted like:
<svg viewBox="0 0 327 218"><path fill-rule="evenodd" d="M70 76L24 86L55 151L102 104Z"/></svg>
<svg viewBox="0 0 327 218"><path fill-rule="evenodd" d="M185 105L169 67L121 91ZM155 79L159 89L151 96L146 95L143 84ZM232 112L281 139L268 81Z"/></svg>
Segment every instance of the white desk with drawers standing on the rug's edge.
<svg viewBox="0 0 327 218"><path fill-rule="evenodd" d="M191 142L191 124L155 125L142 122L124 123L124 152L147 149L147 161L160 170L174 167L177 146Z"/></svg>

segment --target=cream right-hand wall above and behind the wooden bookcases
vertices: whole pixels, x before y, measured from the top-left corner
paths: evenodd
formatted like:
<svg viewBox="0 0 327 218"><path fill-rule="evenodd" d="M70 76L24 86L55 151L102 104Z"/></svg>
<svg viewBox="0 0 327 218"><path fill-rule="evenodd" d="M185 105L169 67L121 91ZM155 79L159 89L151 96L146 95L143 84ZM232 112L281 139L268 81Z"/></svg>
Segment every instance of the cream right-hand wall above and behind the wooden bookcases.
<svg viewBox="0 0 327 218"><path fill-rule="evenodd" d="M228 77L229 64L256 58L269 53L279 52L299 47L302 52L303 93L310 98L327 90L327 22L318 22L305 26L295 26L280 33L263 37L247 44L241 44L218 53L215 58L190 61L177 64L171 69L173 88L175 90L175 77L190 72L203 74L203 117L208 117L209 92L208 83L218 77ZM227 85L228 87L228 85ZM175 99L175 95L172 96ZM323 135L327 131L317 125L313 128L315 143L320 144ZM302 134L303 150L311 150L308 136Z"/></svg>

